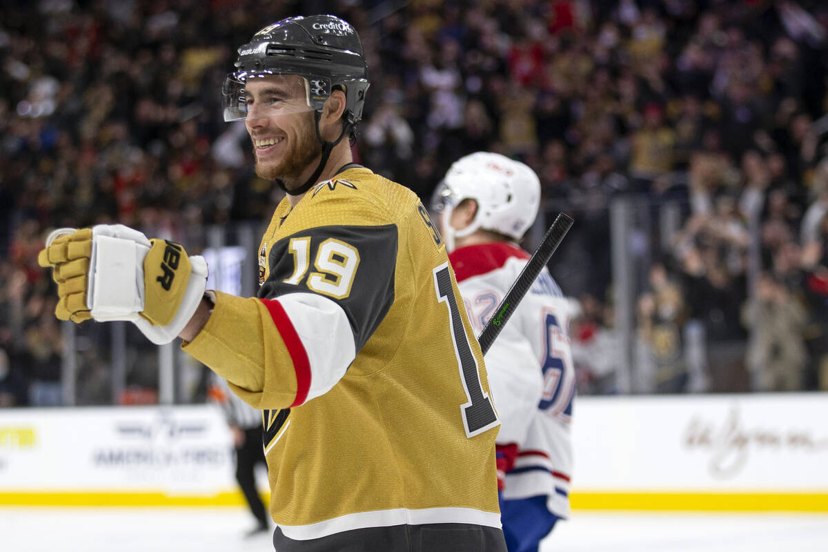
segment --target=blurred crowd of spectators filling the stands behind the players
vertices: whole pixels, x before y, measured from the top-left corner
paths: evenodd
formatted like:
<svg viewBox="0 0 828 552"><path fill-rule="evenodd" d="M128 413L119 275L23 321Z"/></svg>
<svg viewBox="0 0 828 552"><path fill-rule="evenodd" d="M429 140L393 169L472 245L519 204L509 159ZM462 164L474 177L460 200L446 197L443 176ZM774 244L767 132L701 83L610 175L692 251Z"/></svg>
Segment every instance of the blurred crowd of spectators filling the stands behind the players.
<svg viewBox="0 0 828 552"><path fill-rule="evenodd" d="M368 57L356 161L428 202L452 161L499 151L574 215L553 275L576 299L580 392L618 391L617 198L650 221L633 391L828 389L820 0L18 0L0 6L0 406L61 401L36 264L51 228L117 221L195 250L205 225L269 218L282 194L220 86L253 32L316 12Z"/></svg>

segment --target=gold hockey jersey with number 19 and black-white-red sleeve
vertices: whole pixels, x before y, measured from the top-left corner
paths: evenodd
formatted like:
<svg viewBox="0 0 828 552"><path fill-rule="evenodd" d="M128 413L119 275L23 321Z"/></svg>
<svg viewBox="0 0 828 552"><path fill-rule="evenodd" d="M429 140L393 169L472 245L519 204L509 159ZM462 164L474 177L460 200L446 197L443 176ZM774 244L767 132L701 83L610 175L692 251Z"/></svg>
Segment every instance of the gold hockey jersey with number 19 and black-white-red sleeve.
<svg viewBox="0 0 828 552"><path fill-rule="evenodd" d="M283 200L259 256L258 298L217 293L185 351L263 410L284 535L499 527L483 356L416 195L350 166Z"/></svg>

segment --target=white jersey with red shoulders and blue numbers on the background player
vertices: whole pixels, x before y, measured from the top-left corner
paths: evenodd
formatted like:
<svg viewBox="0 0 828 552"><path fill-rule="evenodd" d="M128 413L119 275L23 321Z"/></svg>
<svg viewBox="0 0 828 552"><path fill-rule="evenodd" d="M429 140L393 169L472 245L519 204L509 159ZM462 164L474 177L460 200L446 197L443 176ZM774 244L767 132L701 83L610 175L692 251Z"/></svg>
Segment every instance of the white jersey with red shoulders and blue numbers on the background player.
<svg viewBox="0 0 828 552"><path fill-rule="evenodd" d="M475 334L494 314L528 258L527 252L507 242L460 247L450 254ZM550 511L564 518L569 516L575 398L567 305L544 268L485 356L501 420L497 443L517 444L503 498L546 494Z"/></svg>

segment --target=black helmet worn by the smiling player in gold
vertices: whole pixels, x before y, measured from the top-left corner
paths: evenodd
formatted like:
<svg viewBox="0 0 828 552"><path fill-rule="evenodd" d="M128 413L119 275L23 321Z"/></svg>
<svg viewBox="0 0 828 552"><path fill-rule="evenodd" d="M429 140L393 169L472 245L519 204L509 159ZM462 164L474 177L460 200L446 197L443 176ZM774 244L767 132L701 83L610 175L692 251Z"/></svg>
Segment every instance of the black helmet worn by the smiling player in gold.
<svg viewBox="0 0 828 552"><path fill-rule="evenodd" d="M362 118L368 65L354 27L339 17L288 17L258 31L238 49L236 70L224 80L224 120L246 118L244 86L248 79L297 74L306 80L308 106L321 113L331 91L345 93L350 125Z"/></svg>

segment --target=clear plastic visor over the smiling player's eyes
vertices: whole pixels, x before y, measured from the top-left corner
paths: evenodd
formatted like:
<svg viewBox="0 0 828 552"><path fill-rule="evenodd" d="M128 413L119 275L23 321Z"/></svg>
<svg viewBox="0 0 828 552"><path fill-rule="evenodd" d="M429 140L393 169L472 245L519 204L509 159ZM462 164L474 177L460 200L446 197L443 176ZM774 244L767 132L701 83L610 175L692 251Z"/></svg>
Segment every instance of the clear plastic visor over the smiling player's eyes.
<svg viewBox="0 0 828 552"><path fill-rule="evenodd" d="M320 108L330 84L314 79L312 83L298 74L276 70L238 71L224 79L222 111L225 121L272 118ZM315 101L312 103L311 99Z"/></svg>

